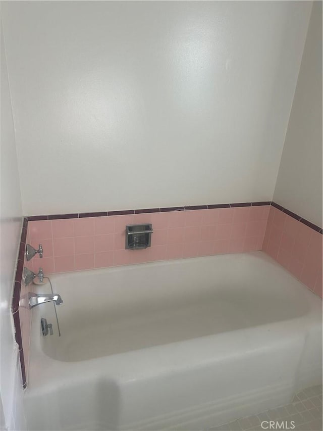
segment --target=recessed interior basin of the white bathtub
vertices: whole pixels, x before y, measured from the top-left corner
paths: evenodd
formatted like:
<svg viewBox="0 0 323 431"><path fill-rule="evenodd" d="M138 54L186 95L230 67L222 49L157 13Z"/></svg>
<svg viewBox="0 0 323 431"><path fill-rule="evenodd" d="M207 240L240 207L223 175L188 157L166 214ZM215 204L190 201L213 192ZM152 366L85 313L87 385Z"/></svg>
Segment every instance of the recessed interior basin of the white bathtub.
<svg viewBox="0 0 323 431"><path fill-rule="evenodd" d="M82 361L306 314L307 302L283 290L282 280L267 288L269 267L251 281L253 262L229 257L230 271L210 265L211 257L53 276L53 289L64 297L57 307L61 337L52 316L55 336L41 339L44 353ZM53 305L46 308L50 315Z"/></svg>

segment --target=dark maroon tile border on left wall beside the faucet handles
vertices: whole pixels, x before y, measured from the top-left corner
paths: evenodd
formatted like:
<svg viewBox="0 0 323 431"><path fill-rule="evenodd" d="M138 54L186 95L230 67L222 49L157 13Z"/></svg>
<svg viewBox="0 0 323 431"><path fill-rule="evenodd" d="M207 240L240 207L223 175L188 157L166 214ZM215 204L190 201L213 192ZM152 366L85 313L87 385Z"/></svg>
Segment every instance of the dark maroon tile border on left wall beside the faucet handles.
<svg viewBox="0 0 323 431"><path fill-rule="evenodd" d="M21 326L20 326L20 317L19 317L19 302L20 302L21 283L22 283L23 270L24 270L28 219L29 218L26 218L26 217L24 217L23 219L16 274L15 274L14 292L13 292L13 298L11 303L11 311L13 313L13 319L14 319L14 325L15 325L15 338L16 338L16 342L19 345L19 359L20 359L22 384L23 384L22 386L24 389L27 387L27 381L26 381L24 351L22 347L22 335L21 335ZM42 218L41 220L44 220L44 219Z"/></svg>

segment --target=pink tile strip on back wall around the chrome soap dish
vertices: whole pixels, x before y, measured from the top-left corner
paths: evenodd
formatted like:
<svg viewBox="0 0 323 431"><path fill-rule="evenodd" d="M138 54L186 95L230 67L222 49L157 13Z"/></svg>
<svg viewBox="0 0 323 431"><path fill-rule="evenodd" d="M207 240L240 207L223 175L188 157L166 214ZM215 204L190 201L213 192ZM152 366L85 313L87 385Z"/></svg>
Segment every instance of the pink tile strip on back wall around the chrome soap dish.
<svg viewBox="0 0 323 431"><path fill-rule="evenodd" d="M270 206L29 221L45 273L261 250ZM125 250L127 224L152 223L151 247Z"/></svg>

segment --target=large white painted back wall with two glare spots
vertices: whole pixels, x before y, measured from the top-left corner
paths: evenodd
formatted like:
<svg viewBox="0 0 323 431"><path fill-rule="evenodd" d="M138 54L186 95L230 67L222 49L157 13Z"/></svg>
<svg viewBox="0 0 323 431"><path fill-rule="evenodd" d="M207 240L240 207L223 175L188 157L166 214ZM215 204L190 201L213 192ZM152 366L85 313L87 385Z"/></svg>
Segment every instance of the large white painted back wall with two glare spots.
<svg viewBox="0 0 323 431"><path fill-rule="evenodd" d="M26 215L271 200L309 2L6 2Z"/></svg>

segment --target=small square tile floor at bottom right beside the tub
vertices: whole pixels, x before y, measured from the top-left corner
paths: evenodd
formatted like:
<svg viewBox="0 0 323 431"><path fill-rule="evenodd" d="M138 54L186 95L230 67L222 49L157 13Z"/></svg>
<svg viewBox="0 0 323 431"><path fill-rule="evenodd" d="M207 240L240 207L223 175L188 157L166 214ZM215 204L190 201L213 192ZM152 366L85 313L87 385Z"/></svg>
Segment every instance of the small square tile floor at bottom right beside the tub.
<svg viewBox="0 0 323 431"><path fill-rule="evenodd" d="M278 421L279 425L284 421L284 428L279 426L270 428L268 423L261 427L262 421ZM292 427L292 421L295 427ZM322 431L322 386L304 389L295 395L291 404L209 428L210 431L263 431L264 429Z"/></svg>

